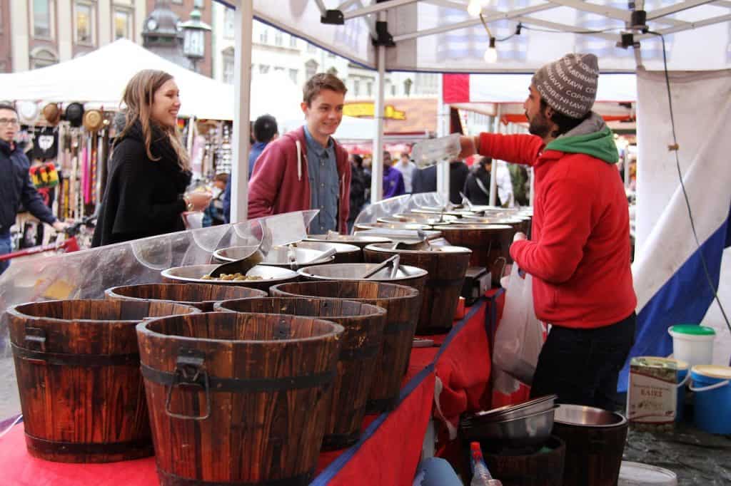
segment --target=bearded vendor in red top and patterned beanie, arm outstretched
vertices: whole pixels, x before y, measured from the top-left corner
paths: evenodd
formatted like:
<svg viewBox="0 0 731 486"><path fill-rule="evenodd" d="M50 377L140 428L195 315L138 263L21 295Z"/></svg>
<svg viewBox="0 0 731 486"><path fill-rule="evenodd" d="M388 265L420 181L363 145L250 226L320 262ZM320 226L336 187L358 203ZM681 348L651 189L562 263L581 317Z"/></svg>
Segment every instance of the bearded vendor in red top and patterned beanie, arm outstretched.
<svg viewBox="0 0 731 486"><path fill-rule="evenodd" d="M539 69L523 104L531 135L462 137L463 153L532 166L531 240L510 255L533 278L537 317L551 324L531 396L613 409L635 341L629 209L612 131L591 111L599 67L569 54Z"/></svg>

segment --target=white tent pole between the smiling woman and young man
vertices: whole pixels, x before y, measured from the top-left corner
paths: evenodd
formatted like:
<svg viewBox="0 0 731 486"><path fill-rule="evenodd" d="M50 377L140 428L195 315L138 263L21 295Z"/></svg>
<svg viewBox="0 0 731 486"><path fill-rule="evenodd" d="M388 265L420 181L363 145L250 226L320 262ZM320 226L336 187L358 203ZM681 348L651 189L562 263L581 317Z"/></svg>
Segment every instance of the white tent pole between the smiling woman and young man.
<svg viewBox="0 0 731 486"><path fill-rule="evenodd" d="M254 7L242 1L234 13L234 112L231 156L231 223L243 223L249 209L249 101L251 99L251 27Z"/></svg>

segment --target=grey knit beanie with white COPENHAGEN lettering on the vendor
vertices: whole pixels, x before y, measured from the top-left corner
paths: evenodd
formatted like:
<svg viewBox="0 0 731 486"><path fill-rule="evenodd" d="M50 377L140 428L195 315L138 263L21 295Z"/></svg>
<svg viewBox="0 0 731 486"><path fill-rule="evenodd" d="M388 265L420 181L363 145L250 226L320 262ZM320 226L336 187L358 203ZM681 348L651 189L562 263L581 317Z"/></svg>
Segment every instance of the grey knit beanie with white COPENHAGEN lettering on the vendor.
<svg viewBox="0 0 731 486"><path fill-rule="evenodd" d="M594 54L567 54L533 75L532 83L548 106L572 118L591 111L599 64Z"/></svg>

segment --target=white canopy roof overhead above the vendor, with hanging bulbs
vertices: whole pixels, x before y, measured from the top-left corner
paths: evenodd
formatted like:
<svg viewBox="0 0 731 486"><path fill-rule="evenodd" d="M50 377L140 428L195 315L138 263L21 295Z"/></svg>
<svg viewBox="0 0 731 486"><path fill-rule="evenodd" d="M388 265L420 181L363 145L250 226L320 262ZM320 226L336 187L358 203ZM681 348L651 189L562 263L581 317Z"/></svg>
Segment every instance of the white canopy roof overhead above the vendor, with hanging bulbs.
<svg viewBox="0 0 731 486"><path fill-rule="evenodd" d="M242 0L224 3L239 5ZM246 0L249 1L249 0ZM387 29L395 47L386 69L436 72L532 73L566 53L599 56L602 72L634 72L632 48L616 47L632 11L616 0L479 1L496 36L496 63L485 63L488 35L467 12L467 0L254 0L254 16L327 50L376 69L375 12L387 9ZM639 3L639 2L638 2ZM731 66L731 3L723 0L645 0L647 25L665 35L670 70L725 69ZM341 18L342 25L321 23ZM518 24L520 35L512 36ZM510 39L505 39L508 36ZM505 40L502 40L505 39ZM663 66L662 42L635 32L648 70Z"/></svg>

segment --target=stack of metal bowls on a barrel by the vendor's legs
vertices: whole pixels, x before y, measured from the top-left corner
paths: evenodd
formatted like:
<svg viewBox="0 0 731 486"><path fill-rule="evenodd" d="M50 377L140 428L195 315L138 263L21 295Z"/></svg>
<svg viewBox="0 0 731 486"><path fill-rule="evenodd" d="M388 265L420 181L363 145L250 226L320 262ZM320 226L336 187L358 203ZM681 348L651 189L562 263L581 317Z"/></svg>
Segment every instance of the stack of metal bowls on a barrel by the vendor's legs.
<svg viewBox="0 0 731 486"><path fill-rule="evenodd" d="M460 425L463 436L503 447L539 446L550 438L557 407L554 401L556 395L547 395L464 417Z"/></svg>

